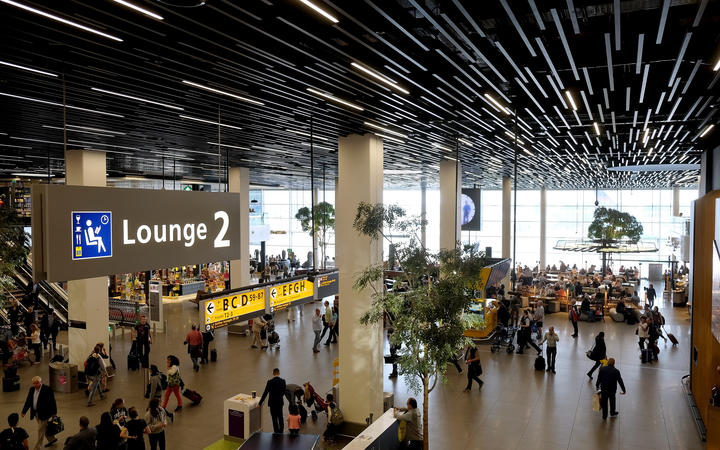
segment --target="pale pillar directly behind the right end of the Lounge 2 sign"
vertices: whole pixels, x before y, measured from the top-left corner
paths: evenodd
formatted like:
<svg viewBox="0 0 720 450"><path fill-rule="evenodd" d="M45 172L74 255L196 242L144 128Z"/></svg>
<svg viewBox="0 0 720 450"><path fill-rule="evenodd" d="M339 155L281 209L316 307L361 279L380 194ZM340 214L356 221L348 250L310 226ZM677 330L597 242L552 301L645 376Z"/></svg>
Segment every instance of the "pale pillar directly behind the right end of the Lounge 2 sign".
<svg viewBox="0 0 720 450"><path fill-rule="evenodd" d="M228 188L240 193L240 227L231 230L240 239L240 259L230 261L230 288L236 289L250 284L250 170L231 167Z"/></svg>

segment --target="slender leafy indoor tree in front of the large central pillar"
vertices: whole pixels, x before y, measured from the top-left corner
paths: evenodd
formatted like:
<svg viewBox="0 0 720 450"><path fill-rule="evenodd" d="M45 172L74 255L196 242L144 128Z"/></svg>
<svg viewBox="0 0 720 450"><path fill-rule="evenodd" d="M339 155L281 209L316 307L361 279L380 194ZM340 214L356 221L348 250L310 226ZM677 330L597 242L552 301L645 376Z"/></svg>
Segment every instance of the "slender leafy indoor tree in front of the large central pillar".
<svg viewBox="0 0 720 450"><path fill-rule="evenodd" d="M382 323L385 318L392 323L390 343L400 346L398 371L411 391L423 395L423 448L427 449L428 396L439 380L446 381L447 365L467 343L464 331L469 323L463 313L477 297L485 256L471 246L429 252L419 238L423 221L405 218L405 211L398 206L361 203L353 225L361 235L395 246L401 273L394 289L384 289L382 264L362 271L355 288L368 289L372 298L362 324ZM393 235L409 239L396 243Z"/></svg>

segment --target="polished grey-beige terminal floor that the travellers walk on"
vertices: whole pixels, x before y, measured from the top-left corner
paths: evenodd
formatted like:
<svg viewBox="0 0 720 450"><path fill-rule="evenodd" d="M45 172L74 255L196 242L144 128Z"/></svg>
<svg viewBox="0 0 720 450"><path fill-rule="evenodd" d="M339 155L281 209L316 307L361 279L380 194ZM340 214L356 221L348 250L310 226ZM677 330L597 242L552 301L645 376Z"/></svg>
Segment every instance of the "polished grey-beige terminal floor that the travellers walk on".
<svg viewBox="0 0 720 450"><path fill-rule="evenodd" d="M434 449L703 449L691 419L680 384L689 371L689 315L686 308L672 308L660 299L667 318L666 328L680 340L678 347L660 341L660 361L643 365L639 360L635 327L614 323L580 323L580 337L572 339L572 327L566 313L549 315L546 326L554 325L561 336L558 347L557 374L533 370L534 352L525 355L491 354L488 346L481 347L485 385L481 390L463 392L466 378L448 369L447 383L439 385L430 396L430 447ZM249 338L227 335L221 331L216 345L219 360L203 366L199 373L190 370L190 360L182 345L190 324L197 320L197 307L189 302L165 305L165 317L170 324L167 333L157 334L151 351L153 363L161 365L168 353L181 357L185 383L204 395L198 407L185 407L176 415L175 423L167 429L168 449L202 449L222 438L223 400L240 392L261 392L273 367L279 367L288 383L310 381L319 391L330 389L332 362L337 356L335 345L321 346L312 354L313 333L311 310L306 305L304 317L288 324L284 317L278 321L281 348L272 352L250 349ZM628 393L618 395L616 419L603 421L591 409L594 385L585 373L592 365L585 351L592 346L599 331L605 331L609 356L617 360ZM126 356L130 346L129 332L118 331L112 339L113 358L118 375L111 382L111 392L95 407L85 406L82 393L57 394L60 415L65 419L69 436L76 429L81 415L92 424L98 422L102 411L109 409L112 399L122 397L128 406L144 408L142 378L139 372L126 370ZM47 358L47 357L46 357ZM22 407L35 375L47 377L47 365L24 367L20 370L20 392L0 394L3 417ZM386 366L386 375L389 367ZM408 396L402 378L385 378L385 391L395 393L397 404L404 404ZM421 397L418 395L417 397ZM175 400L170 400L170 407ZM263 412L265 431L272 431L269 412ZM21 426L34 436L35 424L28 418ZM325 418L309 423L302 432L321 433ZM31 446L34 441L31 439Z"/></svg>

